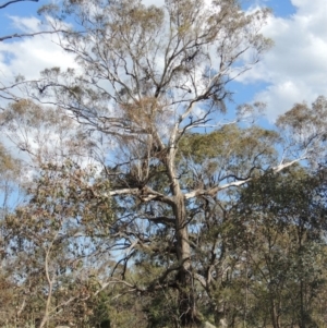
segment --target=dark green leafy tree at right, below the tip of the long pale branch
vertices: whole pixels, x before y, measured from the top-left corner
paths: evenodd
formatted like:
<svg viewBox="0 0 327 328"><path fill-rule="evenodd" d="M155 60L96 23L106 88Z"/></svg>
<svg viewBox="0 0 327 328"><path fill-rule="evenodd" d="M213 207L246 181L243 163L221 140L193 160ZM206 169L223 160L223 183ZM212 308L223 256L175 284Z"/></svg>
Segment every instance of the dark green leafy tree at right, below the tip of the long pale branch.
<svg viewBox="0 0 327 328"><path fill-rule="evenodd" d="M325 283L325 183L319 173L293 167L253 180L241 192L235 223L243 234L238 243L256 299L247 308L250 324L316 325L314 304Z"/></svg>

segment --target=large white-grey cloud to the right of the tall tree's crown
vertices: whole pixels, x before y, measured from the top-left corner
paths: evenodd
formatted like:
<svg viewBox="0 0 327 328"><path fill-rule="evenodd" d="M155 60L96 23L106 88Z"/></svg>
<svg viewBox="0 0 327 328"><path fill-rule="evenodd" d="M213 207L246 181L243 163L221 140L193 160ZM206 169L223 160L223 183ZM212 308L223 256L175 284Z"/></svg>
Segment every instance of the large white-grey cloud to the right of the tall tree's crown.
<svg viewBox="0 0 327 328"><path fill-rule="evenodd" d="M268 83L255 99L267 102L270 120L294 102L312 102L327 95L326 0L292 0L292 4L296 7L293 15L269 19L263 32L275 47L240 78Z"/></svg>

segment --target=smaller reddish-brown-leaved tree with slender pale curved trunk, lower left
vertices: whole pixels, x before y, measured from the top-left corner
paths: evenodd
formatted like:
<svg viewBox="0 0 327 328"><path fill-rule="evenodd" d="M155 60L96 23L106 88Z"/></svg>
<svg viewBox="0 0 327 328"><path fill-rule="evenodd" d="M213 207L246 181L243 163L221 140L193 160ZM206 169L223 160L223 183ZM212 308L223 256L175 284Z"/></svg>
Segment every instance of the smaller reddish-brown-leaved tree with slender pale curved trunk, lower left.
<svg viewBox="0 0 327 328"><path fill-rule="evenodd" d="M101 255L99 240L111 210L108 199L95 202L85 187L93 175L92 168L69 161L60 167L49 163L28 189L29 202L5 217L12 280L26 301L22 321L34 316L43 328L49 321L88 320L87 301L101 290L89 277L102 274L109 260L108 254ZM95 183L94 191L106 190L105 184Z"/></svg>

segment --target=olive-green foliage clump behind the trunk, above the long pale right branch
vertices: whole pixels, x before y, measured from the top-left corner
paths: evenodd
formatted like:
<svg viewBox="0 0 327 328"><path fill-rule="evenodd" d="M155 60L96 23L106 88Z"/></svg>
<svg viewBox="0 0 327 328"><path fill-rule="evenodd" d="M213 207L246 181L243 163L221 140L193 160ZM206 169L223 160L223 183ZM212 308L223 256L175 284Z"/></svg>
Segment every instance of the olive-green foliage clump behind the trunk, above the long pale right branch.
<svg viewBox="0 0 327 328"><path fill-rule="evenodd" d="M237 124L208 134L186 134L179 144L180 170L187 171L194 166L205 177L203 180L245 178L249 171L259 172L276 161L274 146L278 141L274 131L258 126L241 129Z"/></svg>

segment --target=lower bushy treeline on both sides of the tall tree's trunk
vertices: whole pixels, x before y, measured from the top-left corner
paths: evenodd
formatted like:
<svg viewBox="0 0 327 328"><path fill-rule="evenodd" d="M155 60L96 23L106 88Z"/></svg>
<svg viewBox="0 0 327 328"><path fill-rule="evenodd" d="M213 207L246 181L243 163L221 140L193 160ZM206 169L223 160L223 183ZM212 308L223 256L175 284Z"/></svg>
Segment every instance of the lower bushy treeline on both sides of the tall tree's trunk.
<svg viewBox="0 0 327 328"><path fill-rule="evenodd" d="M215 133L187 136L180 155L208 136ZM199 145L195 157L210 151ZM20 168L4 150L1 156L2 195L11 203ZM192 286L204 321L326 327L326 174L324 166L315 171L292 166L257 175L221 199L190 204L190 270L193 277L210 275L209 284L198 279ZM154 230L153 243L121 251L132 258L126 265L119 251L108 251L113 238L126 247L128 232L116 228L125 209L119 199L94 196L108 189L100 178L69 161L48 165L36 177L21 186L25 203L2 208L1 327L43 319L48 327L178 327L178 274L165 271L174 257L169 227L148 220L143 233L146 239ZM162 179L158 174L156 183ZM186 184L190 177L181 180ZM144 207L134 202L135 210Z"/></svg>

